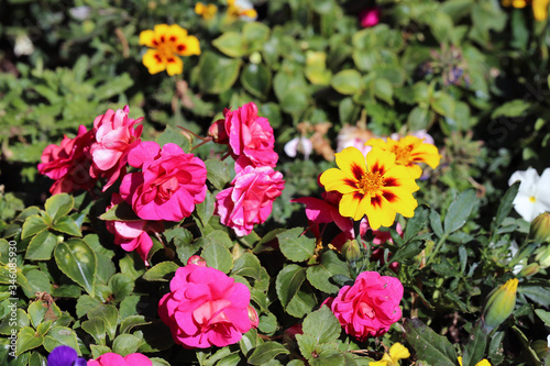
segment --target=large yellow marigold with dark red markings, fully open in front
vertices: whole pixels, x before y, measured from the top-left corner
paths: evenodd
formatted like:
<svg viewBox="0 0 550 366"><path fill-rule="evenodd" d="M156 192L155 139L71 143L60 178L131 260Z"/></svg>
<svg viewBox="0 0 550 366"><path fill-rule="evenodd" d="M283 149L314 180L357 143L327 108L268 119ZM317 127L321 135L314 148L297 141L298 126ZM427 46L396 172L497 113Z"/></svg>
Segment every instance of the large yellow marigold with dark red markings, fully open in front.
<svg viewBox="0 0 550 366"><path fill-rule="evenodd" d="M346 147L334 154L338 168L326 170L320 182L327 191L342 193L340 214L361 220L366 214L373 230L391 226L395 214L406 218L415 214L418 202L413 192L418 190L415 179L395 154L373 147L366 157L356 147Z"/></svg>

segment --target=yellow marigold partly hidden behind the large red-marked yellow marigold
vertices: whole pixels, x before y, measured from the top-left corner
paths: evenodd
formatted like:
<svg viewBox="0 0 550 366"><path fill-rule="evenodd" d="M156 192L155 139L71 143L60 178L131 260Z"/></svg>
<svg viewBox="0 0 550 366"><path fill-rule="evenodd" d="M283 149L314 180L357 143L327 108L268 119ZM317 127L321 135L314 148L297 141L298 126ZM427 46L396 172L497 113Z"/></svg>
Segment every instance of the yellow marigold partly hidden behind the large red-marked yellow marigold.
<svg viewBox="0 0 550 366"><path fill-rule="evenodd" d="M386 141L382 138L371 138L365 145L378 146L383 149L395 154L395 162L399 165L407 167L413 178L418 179L422 175L422 168L418 165L420 163L428 164L432 169L439 165L438 148L424 142L424 138L408 135L399 140L388 137Z"/></svg>

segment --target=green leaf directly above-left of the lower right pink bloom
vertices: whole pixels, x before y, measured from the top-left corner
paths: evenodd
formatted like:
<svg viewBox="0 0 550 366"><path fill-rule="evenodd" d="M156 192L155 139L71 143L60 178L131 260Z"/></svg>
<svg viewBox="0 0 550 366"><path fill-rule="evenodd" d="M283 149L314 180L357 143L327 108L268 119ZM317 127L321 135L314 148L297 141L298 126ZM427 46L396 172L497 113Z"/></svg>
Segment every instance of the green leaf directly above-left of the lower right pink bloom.
<svg viewBox="0 0 550 366"><path fill-rule="evenodd" d="M333 251L324 252L321 256L321 262L317 265L310 266L307 271L309 282L327 293L336 293L340 287L331 281L336 275L350 276L350 270L345 262L340 260Z"/></svg>

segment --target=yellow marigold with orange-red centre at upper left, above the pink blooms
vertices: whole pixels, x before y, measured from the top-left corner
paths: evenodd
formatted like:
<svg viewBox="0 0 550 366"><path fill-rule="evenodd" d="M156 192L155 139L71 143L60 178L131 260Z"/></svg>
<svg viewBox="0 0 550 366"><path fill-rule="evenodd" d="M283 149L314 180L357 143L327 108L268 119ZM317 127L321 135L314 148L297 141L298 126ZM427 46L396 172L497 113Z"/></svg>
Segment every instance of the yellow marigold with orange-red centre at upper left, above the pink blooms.
<svg viewBox="0 0 550 366"><path fill-rule="evenodd" d="M155 29L140 33L140 44L152 49L143 55L143 65L150 74L166 70L168 75L184 71L184 62L178 56L200 55L199 40L187 35L177 24L157 24Z"/></svg>

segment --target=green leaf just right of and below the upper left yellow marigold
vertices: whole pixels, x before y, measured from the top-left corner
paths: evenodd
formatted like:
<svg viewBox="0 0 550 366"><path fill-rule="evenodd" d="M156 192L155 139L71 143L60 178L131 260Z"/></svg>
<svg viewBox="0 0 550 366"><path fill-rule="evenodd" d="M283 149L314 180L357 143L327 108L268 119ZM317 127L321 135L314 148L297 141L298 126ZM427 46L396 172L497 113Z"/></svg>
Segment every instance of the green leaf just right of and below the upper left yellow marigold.
<svg viewBox="0 0 550 366"><path fill-rule="evenodd" d="M219 95L229 90L239 77L240 59L220 57L207 51L200 56L198 82L206 93Z"/></svg>

